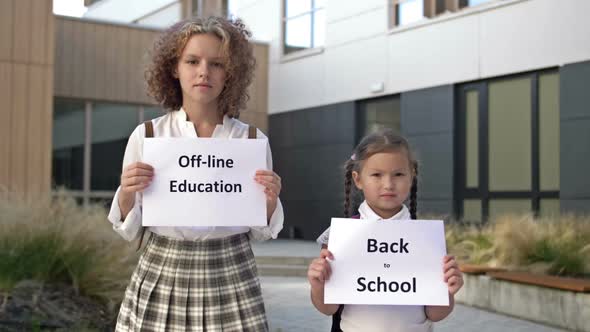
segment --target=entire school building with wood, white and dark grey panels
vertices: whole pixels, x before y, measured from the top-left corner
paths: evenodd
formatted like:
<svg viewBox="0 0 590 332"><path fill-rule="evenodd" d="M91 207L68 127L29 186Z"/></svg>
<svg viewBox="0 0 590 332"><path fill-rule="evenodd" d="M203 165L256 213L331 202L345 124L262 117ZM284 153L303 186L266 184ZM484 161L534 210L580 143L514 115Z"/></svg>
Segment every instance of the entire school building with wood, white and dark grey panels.
<svg viewBox="0 0 590 332"><path fill-rule="evenodd" d="M256 40L241 118L269 134L282 236L314 239L342 215L342 165L381 127L415 149L423 215L590 213L586 0L86 5L73 19L45 1L0 0L0 184L11 190L111 198L130 131L158 116L143 86L153 37L181 17L229 12Z"/></svg>

